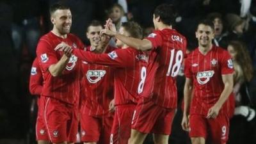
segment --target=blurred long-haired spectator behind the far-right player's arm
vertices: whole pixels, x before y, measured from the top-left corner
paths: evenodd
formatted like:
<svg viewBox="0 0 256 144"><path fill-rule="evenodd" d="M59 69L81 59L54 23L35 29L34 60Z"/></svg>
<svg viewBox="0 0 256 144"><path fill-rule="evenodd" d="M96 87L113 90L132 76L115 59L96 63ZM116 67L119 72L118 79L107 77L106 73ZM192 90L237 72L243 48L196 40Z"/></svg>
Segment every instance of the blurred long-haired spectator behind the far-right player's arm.
<svg viewBox="0 0 256 144"><path fill-rule="evenodd" d="M246 47L239 41L228 44L228 52L234 61L234 94L236 97L236 108L234 117L230 120L229 143L253 143L255 140L255 109L252 108L252 100L248 93L248 82L253 77L252 61ZM255 143L255 142L254 142Z"/></svg>

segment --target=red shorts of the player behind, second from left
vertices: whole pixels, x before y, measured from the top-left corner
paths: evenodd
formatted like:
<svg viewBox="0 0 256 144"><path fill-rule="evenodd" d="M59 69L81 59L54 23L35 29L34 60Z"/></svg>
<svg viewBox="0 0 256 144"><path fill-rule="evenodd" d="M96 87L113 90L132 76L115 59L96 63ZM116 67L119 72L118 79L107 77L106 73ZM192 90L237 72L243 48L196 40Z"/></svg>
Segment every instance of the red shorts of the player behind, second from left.
<svg viewBox="0 0 256 144"><path fill-rule="evenodd" d="M113 116L94 117L83 113L80 119L81 141L109 143Z"/></svg>

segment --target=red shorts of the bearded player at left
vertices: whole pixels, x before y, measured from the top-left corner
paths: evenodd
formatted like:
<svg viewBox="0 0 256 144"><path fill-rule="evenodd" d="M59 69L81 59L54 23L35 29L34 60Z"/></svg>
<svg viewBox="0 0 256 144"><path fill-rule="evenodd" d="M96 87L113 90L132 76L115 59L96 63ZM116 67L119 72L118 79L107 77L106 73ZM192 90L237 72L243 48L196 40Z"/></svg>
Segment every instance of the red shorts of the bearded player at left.
<svg viewBox="0 0 256 144"><path fill-rule="evenodd" d="M44 122L52 143L76 142L78 109L50 97L44 100Z"/></svg>

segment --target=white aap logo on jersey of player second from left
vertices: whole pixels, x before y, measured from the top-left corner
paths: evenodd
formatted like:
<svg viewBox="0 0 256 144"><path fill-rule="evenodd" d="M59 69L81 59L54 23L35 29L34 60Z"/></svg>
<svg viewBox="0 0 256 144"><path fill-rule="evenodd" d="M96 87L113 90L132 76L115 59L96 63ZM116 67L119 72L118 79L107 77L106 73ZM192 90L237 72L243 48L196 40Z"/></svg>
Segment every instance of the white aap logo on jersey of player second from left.
<svg viewBox="0 0 256 144"><path fill-rule="evenodd" d="M88 70L86 77L90 83L97 83L105 74L106 70Z"/></svg>

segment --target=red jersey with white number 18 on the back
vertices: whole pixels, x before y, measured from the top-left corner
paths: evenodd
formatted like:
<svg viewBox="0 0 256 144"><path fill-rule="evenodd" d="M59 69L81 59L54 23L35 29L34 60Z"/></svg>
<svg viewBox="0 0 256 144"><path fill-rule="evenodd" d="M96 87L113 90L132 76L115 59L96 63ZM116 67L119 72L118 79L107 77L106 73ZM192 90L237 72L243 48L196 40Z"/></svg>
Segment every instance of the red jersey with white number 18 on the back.
<svg viewBox="0 0 256 144"><path fill-rule="evenodd" d="M153 45L147 83L154 83L154 102L164 108L177 107L176 77L186 54L187 40L175 29L156 30L147 37Z"/></svg>

